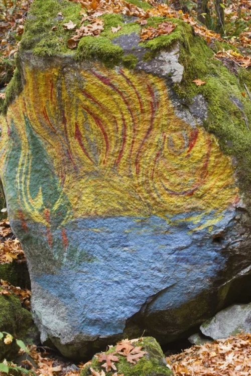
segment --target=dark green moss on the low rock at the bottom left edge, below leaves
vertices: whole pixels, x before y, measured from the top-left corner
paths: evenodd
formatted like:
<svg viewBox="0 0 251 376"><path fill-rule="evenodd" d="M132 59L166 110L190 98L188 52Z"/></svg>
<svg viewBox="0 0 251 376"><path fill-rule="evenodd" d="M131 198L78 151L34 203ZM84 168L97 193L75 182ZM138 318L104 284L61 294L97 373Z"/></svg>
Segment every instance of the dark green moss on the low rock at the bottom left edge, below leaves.
<svg viewBox="0 0 251 376"><path fill-rule="evenodd" d="M0 331L6 331L15 338L23 339L32 325L31 313L22 308L19 298L0 295ZM18 350L16 341L10 345L0 341L0 360L4 357L12 360Z"/></svg>

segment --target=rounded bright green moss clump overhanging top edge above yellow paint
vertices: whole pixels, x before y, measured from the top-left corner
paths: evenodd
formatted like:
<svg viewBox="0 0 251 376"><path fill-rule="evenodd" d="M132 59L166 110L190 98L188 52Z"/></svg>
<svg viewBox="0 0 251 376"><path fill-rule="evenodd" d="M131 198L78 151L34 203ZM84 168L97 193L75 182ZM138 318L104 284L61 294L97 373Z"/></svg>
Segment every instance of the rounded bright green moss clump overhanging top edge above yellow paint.
<svg viewBox="0 0 251 376"><path fill-rule="evenodd" d="M78 44L76 59L91 60L98 59L106 66L112 67L118 64L123 56L123 50L115 46L108 38L85 37Z"/></svg>

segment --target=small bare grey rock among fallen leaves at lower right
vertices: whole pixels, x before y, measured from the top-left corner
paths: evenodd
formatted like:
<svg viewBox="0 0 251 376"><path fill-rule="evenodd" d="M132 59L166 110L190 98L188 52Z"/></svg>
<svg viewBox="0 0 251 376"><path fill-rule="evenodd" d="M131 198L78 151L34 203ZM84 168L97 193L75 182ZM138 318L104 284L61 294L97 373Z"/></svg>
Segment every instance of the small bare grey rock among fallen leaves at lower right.
<svg viewBox="0 0 251 376"><path fill-rule="evenodd" d="M203 334L213 338L227 338L240 331L251 331L251 303L234 304L218 312L200 326Z"/></svg>

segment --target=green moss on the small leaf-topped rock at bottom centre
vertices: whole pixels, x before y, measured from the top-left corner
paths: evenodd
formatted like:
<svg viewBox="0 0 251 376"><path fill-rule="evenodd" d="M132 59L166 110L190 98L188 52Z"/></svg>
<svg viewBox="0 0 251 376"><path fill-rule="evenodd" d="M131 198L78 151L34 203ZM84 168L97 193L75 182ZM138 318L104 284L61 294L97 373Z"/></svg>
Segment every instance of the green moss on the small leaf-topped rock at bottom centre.
<svg viewBox="0 0 251 376"><path fill-rule="evenodd" d="M171 374L166 366L161 347L153 337L144 337L134 345L143 346L143 350L147 353L136 364L129 363L125 356L116 354L119 357L119 361L115 362L118 374L124 374L124 376L156 376L158 374L169 376ZM111 347L106 354L114 351L115 347ZM101 364L96 357L93 357L91 364L83 368L81 376L89 376L90 367L100 372L103 369ZM106 376L111 376L113 373L113 371L106 372Z"/></svg>

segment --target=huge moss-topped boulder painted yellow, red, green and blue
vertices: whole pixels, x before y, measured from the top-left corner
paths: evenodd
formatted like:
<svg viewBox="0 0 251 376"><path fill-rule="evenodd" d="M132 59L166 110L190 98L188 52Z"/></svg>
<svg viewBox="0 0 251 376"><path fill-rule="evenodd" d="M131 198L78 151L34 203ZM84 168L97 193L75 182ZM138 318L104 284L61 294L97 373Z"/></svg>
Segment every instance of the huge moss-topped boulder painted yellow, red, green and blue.
<svg viewBox="0 0 251 376"><path fill-rule="evenodd" d="M237 81L178 19L142 44L135 18L104 15L69 50L79 11L35 0L1 120L33 315L75 358L144 330L192 334L251 280L249 73Z"/></svg>

